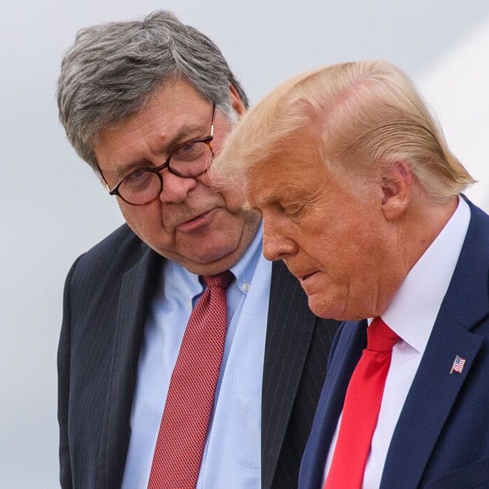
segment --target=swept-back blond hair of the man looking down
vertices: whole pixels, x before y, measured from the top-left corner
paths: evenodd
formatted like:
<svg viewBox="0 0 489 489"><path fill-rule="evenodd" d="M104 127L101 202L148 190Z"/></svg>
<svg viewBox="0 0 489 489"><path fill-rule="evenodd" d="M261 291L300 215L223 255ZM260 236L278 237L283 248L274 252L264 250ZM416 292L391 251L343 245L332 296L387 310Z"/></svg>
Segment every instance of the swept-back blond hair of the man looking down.
<svg viewBox="0 0 489 489"><path fill-rule="evenodd" d="M410 79L383 61L333 64L285 81L237 124L213 179L246 178L305 130L317 135L325 165L339 178L403 161L434 198L474 183Z"/></svg>

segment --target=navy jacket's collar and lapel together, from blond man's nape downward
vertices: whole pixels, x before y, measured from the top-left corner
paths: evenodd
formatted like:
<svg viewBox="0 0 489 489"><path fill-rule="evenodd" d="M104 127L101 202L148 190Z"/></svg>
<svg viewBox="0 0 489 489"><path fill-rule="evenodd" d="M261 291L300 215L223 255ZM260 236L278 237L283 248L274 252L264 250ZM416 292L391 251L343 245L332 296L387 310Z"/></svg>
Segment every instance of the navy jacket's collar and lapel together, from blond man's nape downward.
<svg viewBox="0 0 489 489"><path fill-rule="evenodd" d="M471 223L454 275L406 398L386 458L381 488L417 487L483 338L470 330L488 315L487 216L471 206ZM474 264L477 264L474 266ZM456 355L462 373L450 374ZM409 474L401 477L400 474Z"/></svg>

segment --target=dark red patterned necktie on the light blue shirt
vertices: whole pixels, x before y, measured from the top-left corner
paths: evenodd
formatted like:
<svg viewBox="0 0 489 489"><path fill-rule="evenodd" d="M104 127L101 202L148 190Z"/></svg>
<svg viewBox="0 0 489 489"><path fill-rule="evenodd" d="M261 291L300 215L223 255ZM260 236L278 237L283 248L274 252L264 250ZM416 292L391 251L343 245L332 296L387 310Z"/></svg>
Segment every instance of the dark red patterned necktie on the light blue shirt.
<svg viewBox="0 0 489 489"><path fill-rule="evenodd" d="M206 290L190 315L159 426L149 489L195 488L226 337L230 271L203 277Z"/></svg>

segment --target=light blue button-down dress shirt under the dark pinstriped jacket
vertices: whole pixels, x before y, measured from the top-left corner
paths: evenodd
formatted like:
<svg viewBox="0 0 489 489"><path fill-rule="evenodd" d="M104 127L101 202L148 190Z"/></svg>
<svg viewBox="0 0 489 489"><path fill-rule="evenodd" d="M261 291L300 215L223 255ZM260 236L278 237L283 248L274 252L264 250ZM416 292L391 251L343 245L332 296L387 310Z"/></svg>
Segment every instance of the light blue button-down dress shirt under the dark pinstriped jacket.
<svg viewBox="0 0 489 489"><path fill-rule="evenodd" d="M230 269L227 335L198 489L261 486L262 372L271 263L262 256L262 227ZM193 305L198 276L166 262L152 300L137 369L131 437L122 489L145 489L170 378Z"/></svg>

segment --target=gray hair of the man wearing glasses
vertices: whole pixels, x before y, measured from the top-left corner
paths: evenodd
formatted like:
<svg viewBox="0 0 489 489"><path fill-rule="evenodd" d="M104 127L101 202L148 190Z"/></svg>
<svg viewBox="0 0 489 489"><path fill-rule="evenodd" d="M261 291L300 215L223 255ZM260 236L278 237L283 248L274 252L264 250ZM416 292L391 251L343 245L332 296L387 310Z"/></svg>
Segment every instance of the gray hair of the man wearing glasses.
<svg viewBox="0 0 489 489"><path fill-rule="evenodd" d="M230 120L230 84L248 106L219 48L171 12L79 30L57 84L60 121L69 142L98 172L93 148L100 130L140 111L154 91L179 78Z"/></svg>

